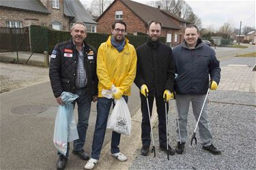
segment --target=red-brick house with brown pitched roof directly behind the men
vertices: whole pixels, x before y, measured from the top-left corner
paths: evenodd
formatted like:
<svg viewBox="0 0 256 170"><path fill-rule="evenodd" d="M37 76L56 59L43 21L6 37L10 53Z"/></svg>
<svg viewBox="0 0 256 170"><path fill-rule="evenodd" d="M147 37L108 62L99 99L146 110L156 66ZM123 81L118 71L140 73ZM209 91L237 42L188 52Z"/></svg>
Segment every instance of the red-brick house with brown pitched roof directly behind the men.
<svg viewBox="0 0 256 170"><path fill-rule="evenodd" d="M150 20L162 22L162 36L167 37L171 46L181 44L187 22L180 16L175 16L160 7L151 7L130 0L115 0L96 20L98 33L111 33L111 24L115 20L124 20L126 32L137 35L147 33L147 23Z"/></svg>

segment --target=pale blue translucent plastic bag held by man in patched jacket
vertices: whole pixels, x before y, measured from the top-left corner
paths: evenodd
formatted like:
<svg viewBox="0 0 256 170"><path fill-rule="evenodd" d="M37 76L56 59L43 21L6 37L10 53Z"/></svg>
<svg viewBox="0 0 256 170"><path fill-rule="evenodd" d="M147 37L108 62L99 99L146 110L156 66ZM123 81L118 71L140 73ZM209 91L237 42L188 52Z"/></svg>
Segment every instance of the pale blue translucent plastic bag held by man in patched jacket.
<svg viewBox="0 0 256 170"><path fill-rule="evenodd" d="M71 92L62 92L61 100L65 103L59 105L57 116L55 118L55 129L53 135L53 143L57 150L66 156L68 141L79 139L77 133L76 122L74 121L72 101L78 98Z"/></svg>

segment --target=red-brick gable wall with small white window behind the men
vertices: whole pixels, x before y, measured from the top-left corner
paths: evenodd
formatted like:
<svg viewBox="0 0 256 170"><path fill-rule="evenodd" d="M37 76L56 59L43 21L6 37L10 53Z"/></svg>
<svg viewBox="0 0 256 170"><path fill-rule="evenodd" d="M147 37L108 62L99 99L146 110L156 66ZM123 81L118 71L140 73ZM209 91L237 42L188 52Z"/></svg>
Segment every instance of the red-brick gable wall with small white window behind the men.
<svg viewBox="0 0 256 170"><path fill-rule="evenodd" d="M147 33L147 27L138 16L124 5L121 1L115 1L97 22L98 33L111 33L111 24L115 22L115 11L123 11L123 21L126 22L127 33Z"/></svg>

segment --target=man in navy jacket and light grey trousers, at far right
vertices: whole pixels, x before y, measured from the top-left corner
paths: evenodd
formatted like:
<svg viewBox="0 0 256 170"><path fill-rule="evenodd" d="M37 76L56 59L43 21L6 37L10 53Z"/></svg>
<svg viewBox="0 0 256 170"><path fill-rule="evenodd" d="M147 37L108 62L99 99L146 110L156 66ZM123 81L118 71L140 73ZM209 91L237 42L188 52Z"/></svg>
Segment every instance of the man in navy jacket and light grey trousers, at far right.
<svg viewBox="0 0 256 170"><path fill-rule="evenodd" d="M197 120L208 88L216 90L220 82L221 68L214 50L203 44L199 39L199 29L195 25L186 27L183 44L173 49L173 56L177 73L175 92L177 94L176 103L181 138L178 140L175 150L177 154L182 154L187 137L186 124L190 102ZM216 149L212 144L213 139L209 130L207 102L203 107L199 120L199 135L203 150L207 150L212 154L221 154L221 150Z"/></svg>

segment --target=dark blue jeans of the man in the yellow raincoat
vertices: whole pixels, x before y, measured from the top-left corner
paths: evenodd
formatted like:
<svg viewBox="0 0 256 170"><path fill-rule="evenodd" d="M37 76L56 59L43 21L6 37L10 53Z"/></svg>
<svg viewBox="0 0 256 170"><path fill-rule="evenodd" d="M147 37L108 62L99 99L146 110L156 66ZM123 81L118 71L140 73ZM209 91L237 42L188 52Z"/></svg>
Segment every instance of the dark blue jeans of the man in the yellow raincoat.
<svg viewBox="0 0 256 170"><path fill-rule="evenodd" d="M128 102L128 96L123 96L126 103ZM100 152L104 142L104 136L106 133L106 123L109 117L109 110L113 103L113 99L107 99L106 97L99 97L97 103L97 120L94 130L94 140L92 142L91 158L99 160ZM115 106L113 104L113 106ZM112 132L111 138L111 153L115 154L120 152L119 143L120 143L121 134Z"/></svg>

